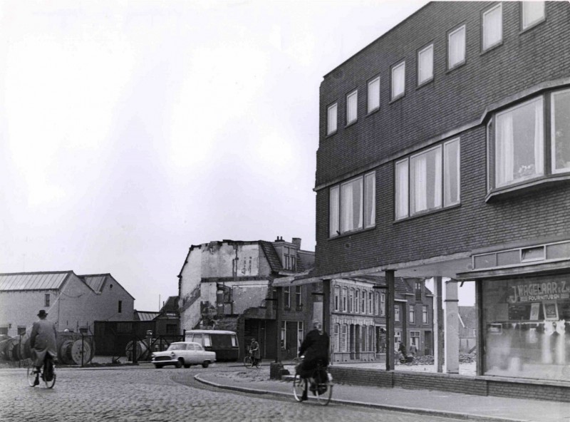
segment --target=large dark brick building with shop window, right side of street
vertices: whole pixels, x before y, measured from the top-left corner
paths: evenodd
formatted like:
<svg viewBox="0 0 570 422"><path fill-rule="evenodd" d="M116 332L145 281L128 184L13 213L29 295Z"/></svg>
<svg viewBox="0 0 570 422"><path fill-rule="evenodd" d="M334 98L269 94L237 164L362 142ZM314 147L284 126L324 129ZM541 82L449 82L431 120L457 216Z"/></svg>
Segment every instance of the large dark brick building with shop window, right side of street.
<svg viewBox="0 0 570 422"><path fill-rule="evenodd" d="M326 74L314 279L475 282L478 374L570 381L569 38L568 2L433 2Z"/></svg>

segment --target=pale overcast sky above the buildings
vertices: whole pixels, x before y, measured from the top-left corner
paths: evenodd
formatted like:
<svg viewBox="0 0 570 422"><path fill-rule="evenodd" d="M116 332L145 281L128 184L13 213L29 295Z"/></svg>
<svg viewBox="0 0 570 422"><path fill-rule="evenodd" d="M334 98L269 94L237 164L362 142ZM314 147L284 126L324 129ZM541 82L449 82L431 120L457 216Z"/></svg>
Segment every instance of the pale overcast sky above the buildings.
<svg viewBox="0 0 570 422"><path fill-rule="evenodd" d="M314 250L323 76L425 3L0 0L0 272L157 311L191 245Z"/></svg>

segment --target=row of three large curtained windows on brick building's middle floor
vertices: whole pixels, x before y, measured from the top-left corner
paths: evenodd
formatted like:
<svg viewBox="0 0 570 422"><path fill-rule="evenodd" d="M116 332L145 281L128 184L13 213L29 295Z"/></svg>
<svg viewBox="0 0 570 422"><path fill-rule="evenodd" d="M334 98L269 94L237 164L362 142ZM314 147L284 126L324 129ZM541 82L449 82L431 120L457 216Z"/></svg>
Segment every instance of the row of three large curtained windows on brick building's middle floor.
<svg viewBox="0 0 570 422"><path fill-rule="evenodd" d="M546 104L548 106L546 107ZM570 89L494 114L487 125L487 190L570 173ZM460 138L395 162L395 220L459 205ZM329 236L375 225L375 173L329 190Z"/></svg>

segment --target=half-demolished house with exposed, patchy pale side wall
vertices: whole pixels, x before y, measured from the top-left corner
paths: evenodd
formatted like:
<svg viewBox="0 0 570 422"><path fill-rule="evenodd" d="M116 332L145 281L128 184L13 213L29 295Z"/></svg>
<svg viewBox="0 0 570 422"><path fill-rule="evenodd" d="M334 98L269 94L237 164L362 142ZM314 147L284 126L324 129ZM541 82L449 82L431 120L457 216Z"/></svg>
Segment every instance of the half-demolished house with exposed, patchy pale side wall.
<svg viewBox="0 0 570 422"><path fill-rule="evenodd" d="M192 245L178 275L180 330L236 331L242 354L256 338L267 359L277 354L279 325L281 356L294 357L312 318L314 287L284 289L277 321L273 282L313 266L314 252L301 249L299 238Z"/></svg>

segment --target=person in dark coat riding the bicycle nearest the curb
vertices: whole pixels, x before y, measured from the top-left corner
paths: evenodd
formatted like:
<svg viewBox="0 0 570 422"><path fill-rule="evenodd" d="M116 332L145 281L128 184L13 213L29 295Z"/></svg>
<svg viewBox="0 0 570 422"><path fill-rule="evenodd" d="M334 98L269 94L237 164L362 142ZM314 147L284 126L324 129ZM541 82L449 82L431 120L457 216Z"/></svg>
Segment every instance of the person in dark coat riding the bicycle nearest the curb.
<svg viewBox="0 0 570 422"><path fill-rule="evenodd" d="M311 391L315 392L315 380L312 379L314 371L317 367L319 361L326 367L328 366L328 345L330 339L328 334L323 330L321 321L318 319L313 320L313 329L307 333L301 348L299 349L299 357L304 356L303 361L297 367L297 372L302 378L309 379L311 382ZM305 384L305 390L303 391L303 396L301 396L301 401L307 399L307 384Z"/></svg>

